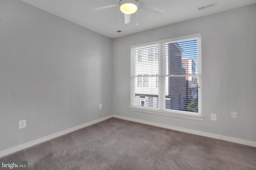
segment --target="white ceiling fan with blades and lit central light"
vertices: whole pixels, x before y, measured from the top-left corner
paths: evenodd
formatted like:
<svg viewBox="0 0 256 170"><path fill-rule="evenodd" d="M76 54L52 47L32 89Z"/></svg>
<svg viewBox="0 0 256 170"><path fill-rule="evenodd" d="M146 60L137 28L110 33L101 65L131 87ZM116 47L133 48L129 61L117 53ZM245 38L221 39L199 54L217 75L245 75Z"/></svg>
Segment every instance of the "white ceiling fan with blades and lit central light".
<svg viewBox="0 0 256 170"><path fill-rule="evenodd" d="M164 13L163 10L160 10L154 6L150 6L144 2L140 2L140 0L120 0L118 4L112 4L107 6L102 6L99 8L92 9L93 11L104 10L107 8L112 8L115 6L120 6L121 12L124 13L124 23L130 23L131 14L136 12L137 10L151 12L154 14L162 15Z"/></svg>

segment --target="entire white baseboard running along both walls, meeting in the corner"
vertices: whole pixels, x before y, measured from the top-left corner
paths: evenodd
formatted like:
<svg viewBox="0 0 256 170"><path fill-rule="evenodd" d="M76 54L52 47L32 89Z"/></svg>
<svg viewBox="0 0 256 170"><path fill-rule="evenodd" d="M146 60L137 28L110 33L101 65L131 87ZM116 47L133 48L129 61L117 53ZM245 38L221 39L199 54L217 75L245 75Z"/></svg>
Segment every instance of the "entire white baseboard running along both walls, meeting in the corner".
<svg viewBox="0 0 256 170"><path fill-rule="evenodd" d="M242 145L248 145L248 146L251 146L251 147L256 147L256 142L253 142L253 141L246 141L246 140L243 140L243 139L227 137L227 136L222 136L222 135L217 135L217 134L207 133L207 132L202 132L202 131L196 131L196 130L186 129L186 128L183 128L183 127L177 127L177 126L172 126L172 125L165 125L165 124L161 124L161 123L154 123L154 122L151 122L151 121L144 121L144 120L134 119L134 118L130 118L130 117L124 117L124 116L120 116L120 115L108 115L106 117L102 117L100 119L96 119L94 121L90 121L88 123L84 123L82 125L78 125L76 127L72 127L70 129L66 129L64 131L54 133L52 135L48 135L46 137L42 137L40 139L36 139L36 140L28 142L28 143L24 143L22 145L18 145L16 147L13 147L13 148L10 148L10 149L6 149L6 150L0 152L0 157L6 156L8 154L17 152L17 151L22 150L22 149L26 149L28 147L32 147L32 146L37 145L39 143L48 141L50 139L54 139L56 137L65 135L65 134L70 133L72 131L76 131L78 129L93 125L95 123L98 123L100 121L104 121L104 120L109 119L111 117L116 117L116 118L124 119L124 120L128 120L128 121L134 121L134 122L143 123L143 124L147 124L147 125L163 127L163 128L166 128L166 129L172 129L172 130L176 130L176 131L182 131L182 132L191 133L191 134L195 134L195 135L200 135L200 136L204 136L204 137L210 137L210 138L214 138L214 139L220 139L220 140L223 140L223 141L229 141L229 142L233 142L233 143L238 143L238 144L242 144Z"/></svg>

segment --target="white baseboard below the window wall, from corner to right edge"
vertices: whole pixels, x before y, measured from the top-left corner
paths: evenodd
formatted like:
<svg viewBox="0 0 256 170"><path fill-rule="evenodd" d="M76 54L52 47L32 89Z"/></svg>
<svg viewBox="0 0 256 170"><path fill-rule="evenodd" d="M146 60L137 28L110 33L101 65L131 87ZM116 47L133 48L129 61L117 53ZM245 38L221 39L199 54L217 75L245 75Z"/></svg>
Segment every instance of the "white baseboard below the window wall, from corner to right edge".
<svg viewBox="0 0 256 170"><path fill-rule="evenodd" d="M256 147L256 142L246 141L244 139L238 139L238 138L234 138L234 137L227 137L227 136L223 136L223 135L217 135L217 134L214 134L214 133L196 131L196 130L192 130L192 129L177 127L177 126L172 126L172 125L165 125L165 124L161 124L161 123L154 123L154 122L151 122L151 121L144 121L144 120L134 119L134 118L130 118L130 117L124 117L124 116L120 116L120 115L112 115L112 116L116 117L116 118L119 118L119 119L125 119L125 120L134 121L134 122L138 122L138 123L143 123L143 124L147 124L147 125L163 127L163 128L166 128L166 129L172 129L172 130L176 130L176 131L191 133L191 134L194 134L194 135L200 135L200 136L204 136L204 137L210 137L210 138L214 138L214 139L220 139L220 140L223 140L223 141L228 141L228 142L238 143L238 144L242 144L242 145L248 145L248 146L251 146L251 147Z"/></svg>

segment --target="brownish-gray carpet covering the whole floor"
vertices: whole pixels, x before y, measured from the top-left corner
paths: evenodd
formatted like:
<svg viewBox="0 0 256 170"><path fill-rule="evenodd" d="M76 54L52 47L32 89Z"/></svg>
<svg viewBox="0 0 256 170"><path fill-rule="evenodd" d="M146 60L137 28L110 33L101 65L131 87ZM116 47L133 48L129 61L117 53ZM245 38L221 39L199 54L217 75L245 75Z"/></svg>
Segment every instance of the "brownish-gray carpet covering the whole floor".
<svg viewBox="0 0 256 170"><path fill-rule="evenodd" d="M111 118L0 160L31 170L256 170L256 148Z"/></svg>

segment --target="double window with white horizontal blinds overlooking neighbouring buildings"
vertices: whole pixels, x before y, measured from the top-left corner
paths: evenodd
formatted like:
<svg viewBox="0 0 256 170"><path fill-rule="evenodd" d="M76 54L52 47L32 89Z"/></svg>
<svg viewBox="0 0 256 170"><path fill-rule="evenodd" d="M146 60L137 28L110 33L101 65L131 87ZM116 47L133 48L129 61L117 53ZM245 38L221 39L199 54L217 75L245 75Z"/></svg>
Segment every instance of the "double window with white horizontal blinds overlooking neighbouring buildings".
<svg viewBox="0 0 256 170"><path fill-rule="evenodd" d="M131 108L141 107L202 118L200 34L131 47Z"/></svg>

